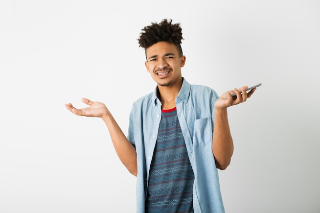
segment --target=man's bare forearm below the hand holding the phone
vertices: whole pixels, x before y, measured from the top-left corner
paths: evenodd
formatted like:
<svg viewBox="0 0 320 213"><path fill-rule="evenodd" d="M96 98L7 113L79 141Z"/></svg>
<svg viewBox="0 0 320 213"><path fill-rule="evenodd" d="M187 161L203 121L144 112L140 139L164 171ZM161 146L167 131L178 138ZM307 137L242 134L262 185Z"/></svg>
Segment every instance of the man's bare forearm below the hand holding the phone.
<svg viewBox="0 0 320 213"><path fill-rule="evenodd" d="M230 164L234 146L228 123L227 110L215 109L212 152L216 167L224 170Z"/></svg>

